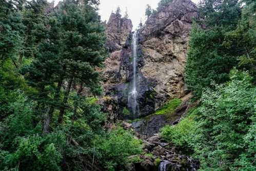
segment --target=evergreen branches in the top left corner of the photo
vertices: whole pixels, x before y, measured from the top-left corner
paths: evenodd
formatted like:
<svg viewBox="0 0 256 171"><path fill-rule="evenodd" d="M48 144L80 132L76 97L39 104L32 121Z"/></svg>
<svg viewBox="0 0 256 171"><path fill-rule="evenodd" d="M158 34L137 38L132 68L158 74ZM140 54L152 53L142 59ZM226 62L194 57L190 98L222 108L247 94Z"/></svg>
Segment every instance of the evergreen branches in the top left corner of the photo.
<svg viewBox="0 0 256 171"><path fill-rule="evenodd" d="M22 13L24 1L1 1L0 3L0 64L11 59L17 68L17 56L23 48Z"/></svg>

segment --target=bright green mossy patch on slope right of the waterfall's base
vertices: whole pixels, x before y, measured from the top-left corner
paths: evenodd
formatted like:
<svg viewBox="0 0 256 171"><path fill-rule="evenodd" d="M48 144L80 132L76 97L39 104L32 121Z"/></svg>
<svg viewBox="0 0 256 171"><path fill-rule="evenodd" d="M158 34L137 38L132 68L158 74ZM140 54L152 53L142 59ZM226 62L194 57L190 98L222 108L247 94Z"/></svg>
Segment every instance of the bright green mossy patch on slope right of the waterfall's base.
<svg viewBox="0 0 256 171"><path fill-rule="evenodd" d="M164 106L155 112L154 115L171 115L175 109L181 104L182 100L174 98L168 101Z"/></svg>

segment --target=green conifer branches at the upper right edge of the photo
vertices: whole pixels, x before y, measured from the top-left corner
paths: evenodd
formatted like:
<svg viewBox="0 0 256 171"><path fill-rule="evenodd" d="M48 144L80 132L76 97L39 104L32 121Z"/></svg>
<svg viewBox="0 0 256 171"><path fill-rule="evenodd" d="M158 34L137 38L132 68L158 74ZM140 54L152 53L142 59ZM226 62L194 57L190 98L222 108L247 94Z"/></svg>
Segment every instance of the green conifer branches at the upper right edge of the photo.
<svg viewBox="0 0 256 171"><path fill-rule="evenodd" d="M235 30L226 33L223 45L234 54L238 60L238 68L250 71L250 74L256 76L256 17L255 2L244 1L245 6L242 9L242 17ZM254 14L253 14L254 13Z"/></svg>

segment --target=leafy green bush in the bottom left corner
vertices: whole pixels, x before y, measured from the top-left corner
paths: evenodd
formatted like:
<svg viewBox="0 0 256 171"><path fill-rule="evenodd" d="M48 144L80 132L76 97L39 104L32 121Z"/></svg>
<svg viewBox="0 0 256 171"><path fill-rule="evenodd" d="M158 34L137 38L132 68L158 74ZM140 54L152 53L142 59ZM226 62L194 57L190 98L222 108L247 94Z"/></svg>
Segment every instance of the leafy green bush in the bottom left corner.
<svg viewBox="0 0 256 171"><path fill-rule="evenodd" d="M21 170L60 170L62 152L55 145L65 144L65 136L52 134L46 137L31 135L17 139L18 147L8 154L3 164L10 168L18 166Z"/></svg>

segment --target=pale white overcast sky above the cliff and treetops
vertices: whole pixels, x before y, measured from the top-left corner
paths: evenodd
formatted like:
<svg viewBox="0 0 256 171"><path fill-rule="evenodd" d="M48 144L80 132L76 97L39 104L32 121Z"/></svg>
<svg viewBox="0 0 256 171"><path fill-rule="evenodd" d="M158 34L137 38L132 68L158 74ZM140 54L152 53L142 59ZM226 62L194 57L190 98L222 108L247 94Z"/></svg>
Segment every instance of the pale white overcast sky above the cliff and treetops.
<svg viewBox="0 0 256 171"><path fill-rule="evenodd" d="M53 0L48 1L52 2ZM55 5L59 1L62 0L55 0ZM155 9L159 1L160 0L101 0L99 13L103 21L108 21L112 10L114 12L119 6L121 8L121 13L124 16L127 8L129 18L132 20L133 29L135 29L139 25L141 19L143 22L145 20L146 5L149 4L152 8ZM194 3L197 3L198 1L199 0L192 0Z"/></svg>

